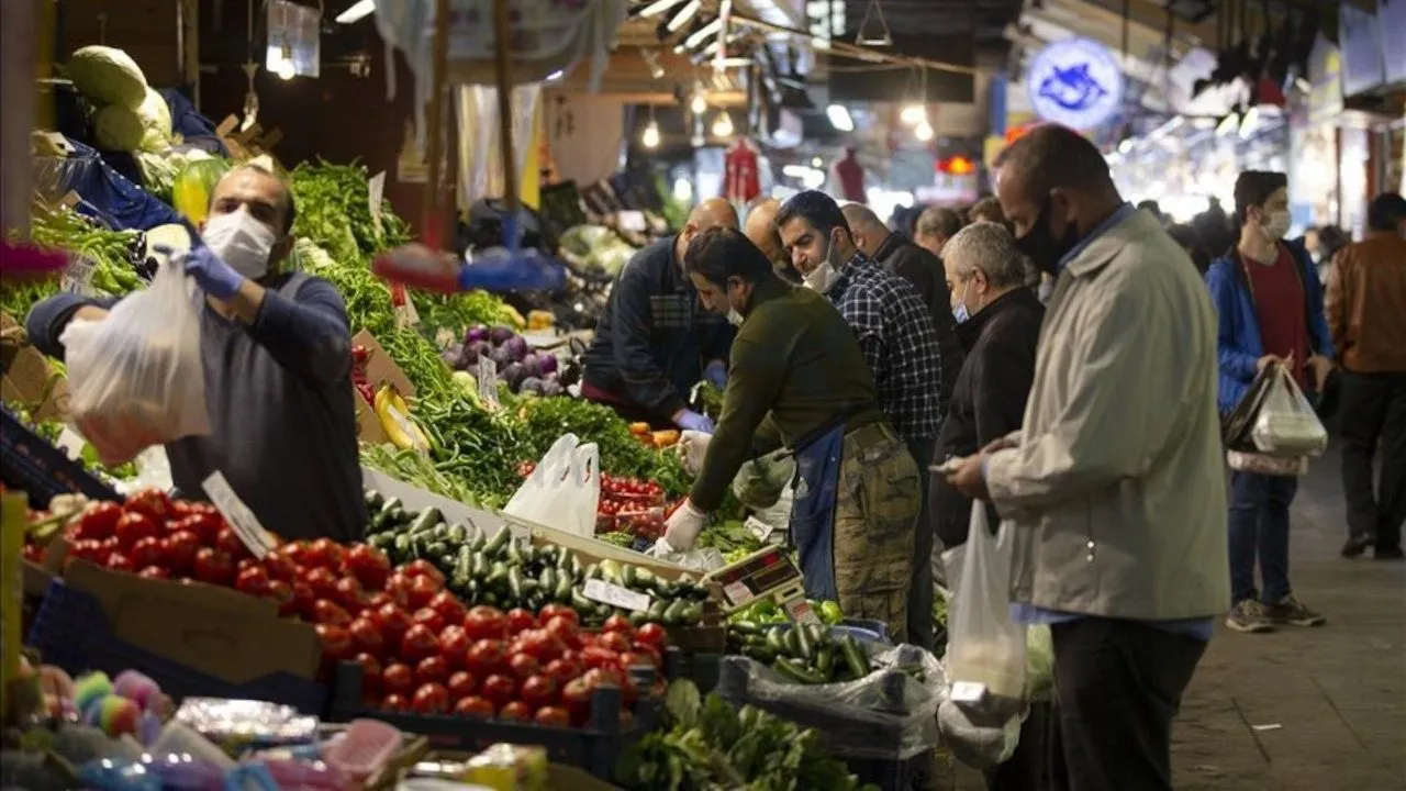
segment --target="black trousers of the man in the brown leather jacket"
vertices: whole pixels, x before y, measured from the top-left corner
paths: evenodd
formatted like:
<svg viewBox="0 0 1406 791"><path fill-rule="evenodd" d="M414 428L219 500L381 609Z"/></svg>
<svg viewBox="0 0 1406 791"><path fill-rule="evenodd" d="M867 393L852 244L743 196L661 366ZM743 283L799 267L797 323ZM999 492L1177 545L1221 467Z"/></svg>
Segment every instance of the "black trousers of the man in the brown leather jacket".
<svg viewBox="0 0 1406 791"><path fill-rule="evenodd" d="M1340 398L1347 529L1372 538L1378 549L1396 549L1406 522L1406 372L1344 370ZM1378 448L1382 481L1374 488Z"/></svg>

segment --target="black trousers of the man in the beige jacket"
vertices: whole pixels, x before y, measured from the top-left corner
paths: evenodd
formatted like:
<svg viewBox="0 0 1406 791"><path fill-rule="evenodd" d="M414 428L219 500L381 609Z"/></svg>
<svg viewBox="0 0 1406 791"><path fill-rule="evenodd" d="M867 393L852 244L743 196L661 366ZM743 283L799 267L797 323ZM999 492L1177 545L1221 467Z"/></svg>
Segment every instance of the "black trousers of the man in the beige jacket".
<svg viewBox="0 0 1406 791"><path fill-rule="evenodd" d="M1050 633L1062 747L1053 788L1171 791L1171 719L1206 643L1108 618L1056 624Z"/></svg>

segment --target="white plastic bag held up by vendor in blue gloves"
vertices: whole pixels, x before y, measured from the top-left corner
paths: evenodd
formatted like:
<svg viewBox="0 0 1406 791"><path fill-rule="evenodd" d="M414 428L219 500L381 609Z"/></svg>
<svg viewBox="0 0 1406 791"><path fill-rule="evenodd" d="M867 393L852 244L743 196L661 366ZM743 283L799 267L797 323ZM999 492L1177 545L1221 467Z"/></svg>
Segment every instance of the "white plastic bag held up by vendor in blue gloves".
<svg viewBox="0 0 1406 791"><path fill-rule="evenodd" d="M70 321L59 341L69 414L107 464L183 436L209 434L200 314L181 265L112 305L103 321Z"/></svg>

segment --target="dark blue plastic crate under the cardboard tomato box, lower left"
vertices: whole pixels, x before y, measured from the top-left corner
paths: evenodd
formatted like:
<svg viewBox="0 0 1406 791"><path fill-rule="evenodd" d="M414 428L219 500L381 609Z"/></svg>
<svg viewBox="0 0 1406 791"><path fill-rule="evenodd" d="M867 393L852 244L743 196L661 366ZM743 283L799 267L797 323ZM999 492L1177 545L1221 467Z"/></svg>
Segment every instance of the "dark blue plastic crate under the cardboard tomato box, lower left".
<svg viewBox="0 0 1406 791"><path fill-rule="evenodd" d="M159 618L159 614L152 614ZM28 645L38 649L44 662L56 664L77 677L90 670L117 676L141 670L174 700L215 697L269 701L321 715L328 690L316 681L291 673L274 673L246 684L232 684L120 640L112 633L107 612L96 598L70 588L62 580L49 584L39 614L30 629Z"/></svg>

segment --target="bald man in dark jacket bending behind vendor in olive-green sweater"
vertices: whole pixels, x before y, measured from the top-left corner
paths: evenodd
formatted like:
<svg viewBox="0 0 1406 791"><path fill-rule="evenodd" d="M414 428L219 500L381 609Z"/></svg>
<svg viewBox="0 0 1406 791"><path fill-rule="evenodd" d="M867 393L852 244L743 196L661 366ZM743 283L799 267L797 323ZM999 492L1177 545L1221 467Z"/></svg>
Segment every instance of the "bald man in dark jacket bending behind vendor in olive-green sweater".
<svg viewBox="0 0 1406 791"><path fill-rule="evenodd" d="M713 421L689 408L688 393L703 379L727 386L727 352L735 331L723 317L703 310L682 262L683 251L702 231L737 225L730 203L706 200L693 207L676 236L634 253L616 277L586 349L583 398L655 429L713 431Z"/></svg>

